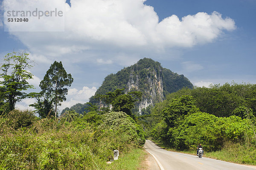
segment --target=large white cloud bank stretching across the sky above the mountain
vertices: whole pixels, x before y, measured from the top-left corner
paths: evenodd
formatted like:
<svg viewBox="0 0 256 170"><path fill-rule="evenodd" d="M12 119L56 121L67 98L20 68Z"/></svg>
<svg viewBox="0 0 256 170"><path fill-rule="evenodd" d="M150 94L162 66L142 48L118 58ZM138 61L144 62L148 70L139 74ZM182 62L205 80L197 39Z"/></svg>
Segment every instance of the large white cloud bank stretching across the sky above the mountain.
<svg viewBox="0 0 256 170"><path fill-rule="evenodd" d="M19 0L20 9L27 0ZM145 0L56 0L55 6L65 7L65 32L11 32L34 53L50 57L99 49L117 51L158 51L171 47L191 47L209 43L223 30L236 28L234 20L223 18L220 13L199 12L181 19L177 15L160 21L152 6ZM41 6L52 6L42 3ZM7 4L6 8L11 8ZM45 8L46 8L45 7ZM31 9L32 10L32 9ZM40 23L41 24L41 23ZM41 27L48 27L51 22ZM28 30L31 24L27 26ZM70 56L69 56L70 57ZM86 56L83 56L86 57ZM98 59L98 63L103 61ZM110 63L106 60L105 63Z"/></svg>

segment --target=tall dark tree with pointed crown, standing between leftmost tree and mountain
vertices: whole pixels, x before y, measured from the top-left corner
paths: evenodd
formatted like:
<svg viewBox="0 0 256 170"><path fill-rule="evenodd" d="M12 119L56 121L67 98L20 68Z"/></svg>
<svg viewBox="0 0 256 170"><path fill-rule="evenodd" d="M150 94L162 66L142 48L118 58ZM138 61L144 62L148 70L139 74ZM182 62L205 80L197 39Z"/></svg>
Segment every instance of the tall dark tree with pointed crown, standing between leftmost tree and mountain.
<svg viewBox="0 0 256 170"><path fill-rule="evenodd" d="M42 92L55 105L55 118L57 117L57 106L60 106L62 101L66 101L67 88L64 86L71 86L72 83L73 78L71 74L67 74L61 61L59 63L54 61L40 82L39 86Z"/></svg>

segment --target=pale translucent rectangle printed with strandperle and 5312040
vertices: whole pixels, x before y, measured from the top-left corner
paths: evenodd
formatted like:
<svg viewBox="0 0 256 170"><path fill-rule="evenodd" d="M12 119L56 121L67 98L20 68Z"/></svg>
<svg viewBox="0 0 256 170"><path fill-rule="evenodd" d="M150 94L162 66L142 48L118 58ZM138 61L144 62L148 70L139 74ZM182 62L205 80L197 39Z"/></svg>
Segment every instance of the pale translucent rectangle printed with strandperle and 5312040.
<svg viewBox="0 0 256 170"><path fill-rule="evenodd" d="M65 5L65 0L4 0L5 31L64 31ZM8 22L8 18L13 22ZM16 18L27 20L16 21Z"/></svg>

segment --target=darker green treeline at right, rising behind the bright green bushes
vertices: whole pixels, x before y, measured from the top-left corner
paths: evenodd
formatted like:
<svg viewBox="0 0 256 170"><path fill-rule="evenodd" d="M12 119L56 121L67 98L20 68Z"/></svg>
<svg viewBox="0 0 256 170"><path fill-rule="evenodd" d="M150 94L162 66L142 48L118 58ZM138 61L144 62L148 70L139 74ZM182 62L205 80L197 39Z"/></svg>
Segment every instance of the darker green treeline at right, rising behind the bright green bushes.
<svg viewBox="0 0 256 170"><path fill-rule="evenodd" d="M195 105L202 111L218 117L228 117L233 115L234 109L244 106L251 108L256 113L256 84L216 84L206 87L196 87L194 89L181 89L175 93L167 95L166 100L182 95L191 95L195 99Z"/></svg>

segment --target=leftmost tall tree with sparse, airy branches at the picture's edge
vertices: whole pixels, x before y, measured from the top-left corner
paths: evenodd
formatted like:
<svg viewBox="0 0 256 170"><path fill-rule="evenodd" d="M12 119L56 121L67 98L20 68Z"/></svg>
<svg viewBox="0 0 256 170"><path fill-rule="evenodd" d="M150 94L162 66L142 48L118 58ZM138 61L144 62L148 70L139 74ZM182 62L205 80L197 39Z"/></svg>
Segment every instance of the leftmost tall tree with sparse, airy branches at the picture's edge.
<svg viewBox="0 0 256 170"><path fill-rule="evenodd" d="M15 108L18 101L26 98L28 94L24 91L33 89L27 80L32 79L33 75L27 69L32 67L32 61L29 60L27 53L12 52L7 54L0 66L0 96L4 102L8 103L8 110ZM1 104L2 105L2 104ZM4 105L4 104L3 104Z"/></svg>

